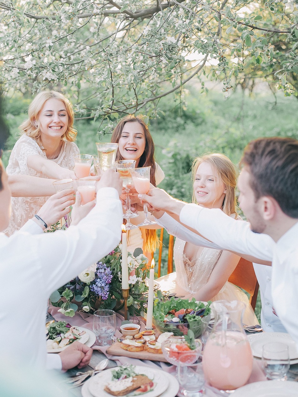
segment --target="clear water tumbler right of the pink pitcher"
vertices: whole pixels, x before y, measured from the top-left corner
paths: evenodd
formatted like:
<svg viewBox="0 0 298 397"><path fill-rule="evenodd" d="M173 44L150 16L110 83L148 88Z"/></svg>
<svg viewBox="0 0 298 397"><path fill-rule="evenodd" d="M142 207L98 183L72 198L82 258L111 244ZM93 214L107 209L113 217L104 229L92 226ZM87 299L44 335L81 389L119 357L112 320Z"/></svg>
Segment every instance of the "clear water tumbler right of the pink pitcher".
<svg viewBox="0 0 298 397"><path fill-rule="evenodd" d="M290 368L288 345L270 342L263 345L262 367L267 380L286 380Z"/></svg>

